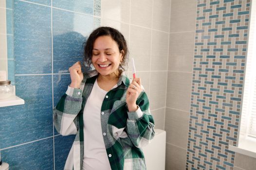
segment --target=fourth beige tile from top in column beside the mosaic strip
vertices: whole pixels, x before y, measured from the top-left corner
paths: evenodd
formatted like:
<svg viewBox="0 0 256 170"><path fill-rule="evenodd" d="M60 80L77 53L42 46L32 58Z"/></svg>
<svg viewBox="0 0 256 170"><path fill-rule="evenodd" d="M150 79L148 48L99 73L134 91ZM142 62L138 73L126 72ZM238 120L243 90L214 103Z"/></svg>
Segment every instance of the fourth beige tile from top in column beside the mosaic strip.
<svg viewBox="0 0 256 170"><path fill-rule="evenodd" d="M181 148L187 148L189 112L166 108L166 142Z"/></svg>

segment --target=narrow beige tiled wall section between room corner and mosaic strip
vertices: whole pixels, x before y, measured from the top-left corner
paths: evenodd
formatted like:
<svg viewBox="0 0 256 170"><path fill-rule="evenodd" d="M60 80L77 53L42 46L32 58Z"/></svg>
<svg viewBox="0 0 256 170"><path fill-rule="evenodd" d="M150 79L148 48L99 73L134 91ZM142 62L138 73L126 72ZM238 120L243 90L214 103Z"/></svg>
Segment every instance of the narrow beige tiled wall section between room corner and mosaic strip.
<svg viewBox="0 0 256 170"><path fill-rule="evenodd" d="M166 170L184 170L196 28L196 0L171 0L167 98Z"/></svg>

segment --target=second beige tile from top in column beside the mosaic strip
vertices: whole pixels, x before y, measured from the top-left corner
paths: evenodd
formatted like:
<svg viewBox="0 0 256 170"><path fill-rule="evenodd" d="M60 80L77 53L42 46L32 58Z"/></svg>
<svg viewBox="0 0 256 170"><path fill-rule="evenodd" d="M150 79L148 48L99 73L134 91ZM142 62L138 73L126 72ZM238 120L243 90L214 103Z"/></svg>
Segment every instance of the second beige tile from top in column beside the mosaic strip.
<svg viewBox="0 0 256 170"><path fill-rule="evenodd" d="M170 34L168 70L192 72L195 32Z"/></svg>

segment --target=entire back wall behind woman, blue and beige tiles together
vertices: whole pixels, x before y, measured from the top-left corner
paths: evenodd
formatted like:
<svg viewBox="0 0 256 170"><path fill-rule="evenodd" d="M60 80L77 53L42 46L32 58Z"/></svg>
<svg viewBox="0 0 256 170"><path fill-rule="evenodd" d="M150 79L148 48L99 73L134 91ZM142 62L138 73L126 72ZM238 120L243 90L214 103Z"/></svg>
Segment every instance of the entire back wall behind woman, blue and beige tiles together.
<svg viewBox="0 0 256 170"><path fill-rule="evenodd" d="M13 8L16 94L25 104L0 108L0 150L11 170L63 170L74 136L55 131L52 109L99 25L125 35L156 128L165 128L170 0L14 0Z"/></svg>

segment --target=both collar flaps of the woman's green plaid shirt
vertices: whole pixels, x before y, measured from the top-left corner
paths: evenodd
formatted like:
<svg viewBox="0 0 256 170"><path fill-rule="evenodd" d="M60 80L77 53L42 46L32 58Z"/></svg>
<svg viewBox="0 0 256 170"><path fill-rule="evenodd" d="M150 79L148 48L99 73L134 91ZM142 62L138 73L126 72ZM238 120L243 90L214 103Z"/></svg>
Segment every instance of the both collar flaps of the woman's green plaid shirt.
<svg viewBox="0 0 256 170"><path fill-rule="evenodd" d="M97 71L96 69L87 71L87 72L84 73L84 78L83 78L83 81L82 81L82 82L85 82L86 79L91 78L91 77L94 77L94 76L96 76L96 75L98 75L98 74L99 74L99 73L98 73L98 71ZM119 80L118 80L118 82L117 82L117 86L121 85L122 82L123 82L123 84L124 84L125 86L127 86L127 87L130 85L130 80L129 80L129 78L127 77L125 71L123 71L123 72L121 73L121 76L119 77Z"/></svg>

